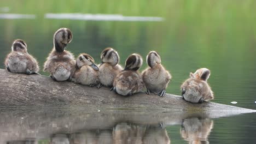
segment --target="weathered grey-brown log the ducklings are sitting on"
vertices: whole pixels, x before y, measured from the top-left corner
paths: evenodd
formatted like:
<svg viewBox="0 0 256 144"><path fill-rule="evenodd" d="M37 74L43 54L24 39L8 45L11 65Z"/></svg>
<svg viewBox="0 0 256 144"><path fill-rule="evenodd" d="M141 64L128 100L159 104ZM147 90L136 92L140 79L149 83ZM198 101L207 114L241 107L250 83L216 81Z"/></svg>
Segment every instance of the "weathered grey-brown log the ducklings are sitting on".
<svg viewBox="0 0 256 144"><path fill-rule="evenodd" d="M56 82L49 76L9 73L0 69L0 106L2 107L104 107L104 109L144 109L191 112L255 110L204 102L192 104L180 96L165 97L137 93L123 97L109 88L88 87L72 82Z"/></svg>

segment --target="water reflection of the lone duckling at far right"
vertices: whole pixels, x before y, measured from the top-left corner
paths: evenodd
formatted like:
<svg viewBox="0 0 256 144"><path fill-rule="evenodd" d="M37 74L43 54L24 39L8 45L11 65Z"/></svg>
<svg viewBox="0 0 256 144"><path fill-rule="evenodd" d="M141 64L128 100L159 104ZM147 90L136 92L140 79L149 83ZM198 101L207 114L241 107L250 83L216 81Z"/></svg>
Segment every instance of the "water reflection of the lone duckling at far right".
<svg viewBox="0 0 256 144"><path fill-rule="evenodd" d="M209 143L208 135L213 128L213 121L209 118L187 118L182 122L181 136L189 143Z"/></svg>

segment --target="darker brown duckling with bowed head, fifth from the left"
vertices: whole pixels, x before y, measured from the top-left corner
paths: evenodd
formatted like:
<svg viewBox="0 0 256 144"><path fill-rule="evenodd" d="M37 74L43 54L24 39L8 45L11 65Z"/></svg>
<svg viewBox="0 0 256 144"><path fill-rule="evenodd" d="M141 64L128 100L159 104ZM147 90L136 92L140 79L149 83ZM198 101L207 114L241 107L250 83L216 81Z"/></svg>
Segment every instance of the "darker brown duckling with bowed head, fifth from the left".
<svg viewBox="0 0 256 144"><path fill-rule="evenodd" d="M142 65L142 57L137 53L130 55L125 62L125 68L114 79L113 90L121 95L132 95L141 92L144 83L137 71Z"/></svg>

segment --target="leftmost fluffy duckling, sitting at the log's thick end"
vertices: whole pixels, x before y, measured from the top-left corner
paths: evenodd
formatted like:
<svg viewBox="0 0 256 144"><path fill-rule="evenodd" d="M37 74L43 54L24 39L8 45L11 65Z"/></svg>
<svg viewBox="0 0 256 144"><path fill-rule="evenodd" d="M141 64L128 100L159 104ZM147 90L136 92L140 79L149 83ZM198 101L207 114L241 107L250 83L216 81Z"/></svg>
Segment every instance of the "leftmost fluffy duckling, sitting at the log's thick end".
<svg viewBox="0 0 256 144"><path fill-rule="evenodd" d="M5 67L11 73L38 74L37 60L27 53L24 40L16 39L11 46L11 52L5 58Z"/></svg>

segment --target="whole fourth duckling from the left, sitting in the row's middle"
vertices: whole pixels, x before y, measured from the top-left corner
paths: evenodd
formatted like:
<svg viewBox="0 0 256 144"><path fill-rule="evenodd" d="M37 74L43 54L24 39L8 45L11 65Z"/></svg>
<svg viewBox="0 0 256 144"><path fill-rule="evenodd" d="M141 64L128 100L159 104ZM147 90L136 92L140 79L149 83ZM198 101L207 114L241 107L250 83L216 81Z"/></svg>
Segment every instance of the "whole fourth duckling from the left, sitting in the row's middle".
<svg viewBox="0 0 256 144"><path fill-rule="evenodd" d="M97 88L101 88L102 85L113 87L115 76L123 69L121 65L118 64L118 52L111 47L107 47L101 52L101 61L99 66L100 70L98 71L100 83L98 83Z"/></svg>

